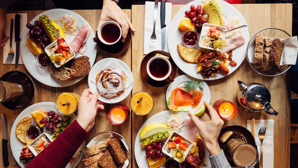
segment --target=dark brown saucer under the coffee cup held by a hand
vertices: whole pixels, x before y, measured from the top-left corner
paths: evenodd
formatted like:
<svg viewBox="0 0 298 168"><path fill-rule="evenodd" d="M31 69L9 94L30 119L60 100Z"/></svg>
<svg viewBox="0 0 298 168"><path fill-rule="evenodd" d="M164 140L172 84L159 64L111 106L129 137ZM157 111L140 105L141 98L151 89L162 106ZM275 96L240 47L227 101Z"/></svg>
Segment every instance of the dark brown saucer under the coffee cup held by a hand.
<svg viewBox="0 0 298 168"><path fill-rule="evenodd" d="M96 36L97 36L97 33L96 33ZM132 39L132 32L129 29L127 37L124 42L121 42L120 40L116 44L106 45L99 41L97 44L103 51L105 51L108 54L119 54L128 48L128 46L130 45L131 39Z"/></svg>

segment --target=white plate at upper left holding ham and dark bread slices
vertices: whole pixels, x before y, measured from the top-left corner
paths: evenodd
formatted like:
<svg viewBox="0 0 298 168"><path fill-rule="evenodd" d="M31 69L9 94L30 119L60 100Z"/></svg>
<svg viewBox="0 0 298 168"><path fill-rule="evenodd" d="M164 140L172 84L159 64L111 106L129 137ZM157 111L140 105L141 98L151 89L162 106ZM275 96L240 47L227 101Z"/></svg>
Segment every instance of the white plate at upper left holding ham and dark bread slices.
<svg viewBox="0 0 298 168"><path fill-rule="evenodd" d="M63 14L70 14L70 15L74 15L77 17L77 33L79 31L79 29L81 28L82 24L84 25L88 25L89 27L91 27L89 25L89 23L83 18L81 17L79 14L73 12L73 11L69 11L66 9L51 9L48 11L44 11L41 14L38 14L35 18L33 18L30 23L34 24L35 20L38 20L38 17L42 14L47 15L51 20L53 20L54 22L56 22L58 25L62 25L62 20L60 20L60 18L62 17ZM26 40L29 38L29 29L26 29L23 37L21 39L21 53L22 53L22 58L23 58L23 62L25 64L25 67L27 68L27 70L29 71L29 73L39 82L47 85L47 86L52 86L52 87L65 87L65 86L71 86L77 82L79 82L80 80L82 80L84 78L84 76L71 80L71 81L62 81L57 79L56 77L52 76L50 74L50 70L49 68L39 68L36 63L35 63L35 57L36 55L34 55L29 48L27 47L26 44ZM66 40L68 43L70 43L73 39L75 35L70 35L68 33L65 33L66 36ZM83 55L87 55L89 57L89 61L90 61L90 65L91 67L94 64L95 58L96 58L96 43L93 42L93 38L95 37L93 31L90 32L90 35L87 39L87 41L84 44L84 54L80 54L80 53L76 53L75 58L83 56Z"/></svg>

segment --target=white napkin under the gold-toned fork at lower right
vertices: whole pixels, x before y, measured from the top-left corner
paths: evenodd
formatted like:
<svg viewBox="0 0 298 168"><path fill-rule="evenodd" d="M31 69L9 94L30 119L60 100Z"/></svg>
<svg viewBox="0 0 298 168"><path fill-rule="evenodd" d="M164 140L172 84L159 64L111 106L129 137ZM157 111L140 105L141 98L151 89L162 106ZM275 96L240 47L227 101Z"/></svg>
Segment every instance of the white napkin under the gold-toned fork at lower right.
<svg viewBox="0 0 298 168"><path fill-rule="evenodd" d="M247 121L247 129L251 131L251 120ZM256 130L256 144L258 146L259 159L261 154L261 143L259 139L259 131L262 126L266 126L265 138L263 140L263 167L272 168L274 167L274 120L255 120Z"/></svg>

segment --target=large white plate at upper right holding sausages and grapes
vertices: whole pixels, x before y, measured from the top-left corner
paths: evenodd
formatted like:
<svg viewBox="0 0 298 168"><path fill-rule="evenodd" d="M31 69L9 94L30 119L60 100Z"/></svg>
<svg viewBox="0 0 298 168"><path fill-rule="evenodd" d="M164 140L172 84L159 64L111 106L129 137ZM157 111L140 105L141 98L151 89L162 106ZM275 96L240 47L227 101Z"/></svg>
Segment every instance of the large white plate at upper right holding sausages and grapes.
<svg viewBox="0 0 298 168"><path fill-rule="evenodd" d="M222 1L222 0L217 0L218 3L220 4L222 11L223 11L223 17L224 19L227 19L228 17L234 17L238 16L241 25L247 25L244 17L241 15L241 13L233 7L231 4ZM169 52L171 54L171 57L175 64L187 75L192 76L196 79L202 79L202 80L215 80L215 79L220 79L223 78L231 73L233 73L243 62L245 55L246 55L246 47L248 45L249 41L249 32L248 32L248 27L242 28L242 33L241 35L245 39L245 43L241 45L240 47L236 48L233 50L233 57L232 59L237 63L235 67L228 66L229 69L229 74L223 74L222 72L217 73L214 75L214 77L204 77L201 75L201 73L196 71L196 65L197 64L191 64L186 61L184 61L183 58L180 57L177 51L177 43L182 45L181 42L181 36L182 36L182 31L178 29L178 25L183 17L185 17L185 11L190 10L190 6L194 5L195 7L198 5L203 5L201 0L196 0L193 2L190 2L189 4L185 5L183 8L181 8L175 17L173 18L170 27L169 27L169 34L172 36L168 36L168 47L169 47ZM196 49L200 49L199 46L195 47Z"/></svg>

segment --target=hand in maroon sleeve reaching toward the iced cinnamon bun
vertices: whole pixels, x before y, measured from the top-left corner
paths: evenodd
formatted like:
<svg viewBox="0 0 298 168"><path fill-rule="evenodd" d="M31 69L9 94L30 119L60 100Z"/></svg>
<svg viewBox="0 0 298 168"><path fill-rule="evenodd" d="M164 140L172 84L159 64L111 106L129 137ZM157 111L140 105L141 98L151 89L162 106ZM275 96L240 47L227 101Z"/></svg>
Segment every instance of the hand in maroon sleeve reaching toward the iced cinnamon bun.
<svg viewBox="0 0 298 168"><path fill-rule="evenodd" d="M90 89L85 89L79 100L77 122L87 132L94 126L97 111L104 110L103 102L97 98L98 92L92 94Z"/></svg>

